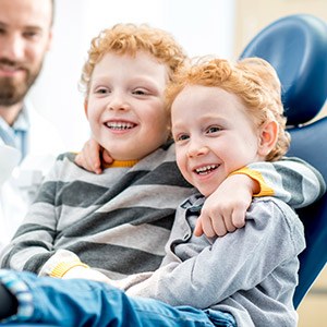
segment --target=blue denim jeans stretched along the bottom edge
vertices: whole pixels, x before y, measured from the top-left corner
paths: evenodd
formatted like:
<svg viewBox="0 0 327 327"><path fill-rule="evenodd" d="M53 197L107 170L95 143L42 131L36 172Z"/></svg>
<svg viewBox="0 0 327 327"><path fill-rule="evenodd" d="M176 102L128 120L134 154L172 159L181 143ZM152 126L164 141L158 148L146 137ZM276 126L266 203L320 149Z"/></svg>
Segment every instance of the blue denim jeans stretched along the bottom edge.
<svg viewBox="0 0 327 327"><path fill-rule="evenodd" d="M191 306L173 307L153 299L131 298L96 281L36 277L29 272L10 274L27 284L33 299L34 312L22 323L73 327L237 326L227 313ZM17 322L14 325L20 326Z"/></svg>

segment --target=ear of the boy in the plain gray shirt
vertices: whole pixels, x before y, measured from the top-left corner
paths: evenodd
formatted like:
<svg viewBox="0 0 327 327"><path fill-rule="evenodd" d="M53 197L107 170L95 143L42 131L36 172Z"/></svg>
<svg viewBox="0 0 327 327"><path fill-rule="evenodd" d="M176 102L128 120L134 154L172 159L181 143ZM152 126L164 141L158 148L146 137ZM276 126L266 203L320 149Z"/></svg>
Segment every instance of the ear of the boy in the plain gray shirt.
<svg viewBox="0 0 327 327"><path fill-rule="evenodd" d="M266 157L275 147L278 138L278 124L275 120L265 123L261 128L258 140L258 155Z"/></svg>

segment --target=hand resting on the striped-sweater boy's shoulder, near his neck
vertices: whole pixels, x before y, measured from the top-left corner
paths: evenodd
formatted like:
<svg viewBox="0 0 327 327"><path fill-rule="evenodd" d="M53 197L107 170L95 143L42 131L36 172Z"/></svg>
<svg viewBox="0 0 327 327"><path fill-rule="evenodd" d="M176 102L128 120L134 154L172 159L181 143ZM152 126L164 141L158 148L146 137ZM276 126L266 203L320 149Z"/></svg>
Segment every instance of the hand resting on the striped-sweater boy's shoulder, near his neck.
<svg viewBox="0 0 327 327"><path fill-rule="evenodd" d="M101 173L101 162L111 164L113 160L109 154L93 138L89 138L83 146L82 152L75 157L75 164L80 167Z"/></svg>

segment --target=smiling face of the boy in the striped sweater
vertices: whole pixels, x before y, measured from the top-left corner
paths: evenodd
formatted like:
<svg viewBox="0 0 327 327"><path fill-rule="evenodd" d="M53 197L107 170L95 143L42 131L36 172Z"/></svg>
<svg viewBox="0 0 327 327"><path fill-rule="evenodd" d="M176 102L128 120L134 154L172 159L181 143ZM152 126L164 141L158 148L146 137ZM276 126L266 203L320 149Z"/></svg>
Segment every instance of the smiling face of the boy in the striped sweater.
<svg viewBox="0 0 327 327"><path fill-rule="evenodd" d="M95 65L85 110L94 138L113 159L142 159L167 141L167 78L166 65L145 52L109 52Z"/></svg>

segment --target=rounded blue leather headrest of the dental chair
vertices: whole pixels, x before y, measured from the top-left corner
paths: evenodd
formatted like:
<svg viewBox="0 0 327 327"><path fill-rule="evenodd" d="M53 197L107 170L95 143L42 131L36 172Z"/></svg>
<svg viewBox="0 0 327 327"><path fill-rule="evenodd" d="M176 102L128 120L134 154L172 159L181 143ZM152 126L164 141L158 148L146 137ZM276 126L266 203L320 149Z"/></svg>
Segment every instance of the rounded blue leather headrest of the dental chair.
<svg viewBox="0 0 327 327"><path fill-rule="evenodd" d="M327 24L310 14L284 16L257 34L241 58L261 57L277 71L288 125L313 119L327 97Z"/></svg>

